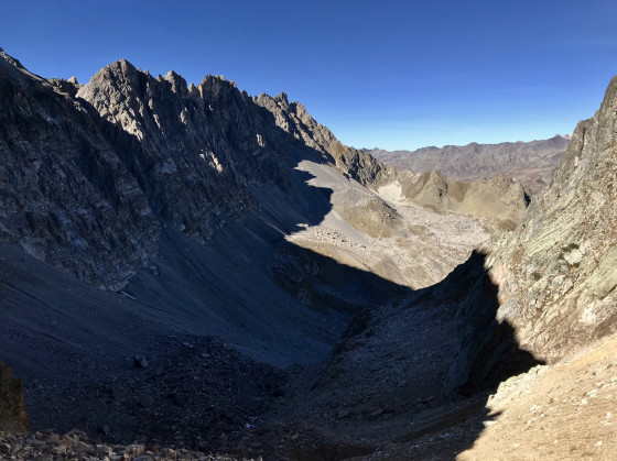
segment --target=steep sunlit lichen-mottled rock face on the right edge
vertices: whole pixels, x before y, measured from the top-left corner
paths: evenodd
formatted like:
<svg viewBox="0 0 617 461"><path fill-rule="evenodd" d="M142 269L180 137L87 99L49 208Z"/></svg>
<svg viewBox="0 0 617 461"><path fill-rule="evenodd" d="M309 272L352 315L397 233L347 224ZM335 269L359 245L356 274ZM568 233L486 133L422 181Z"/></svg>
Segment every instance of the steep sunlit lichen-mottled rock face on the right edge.
<svg viewBox="0 0 617 461"><path fill-rule="evenodd" d="M504 325L521 349L548 362L617 331L616 113L614 78L600 109L576 127L549 188L532 199L515 232L486 249L497 320L462 340L452 377L486 344L494 353L485 359L500 360ZM459 310L465 325L487 299L473 293Z"/></svg>

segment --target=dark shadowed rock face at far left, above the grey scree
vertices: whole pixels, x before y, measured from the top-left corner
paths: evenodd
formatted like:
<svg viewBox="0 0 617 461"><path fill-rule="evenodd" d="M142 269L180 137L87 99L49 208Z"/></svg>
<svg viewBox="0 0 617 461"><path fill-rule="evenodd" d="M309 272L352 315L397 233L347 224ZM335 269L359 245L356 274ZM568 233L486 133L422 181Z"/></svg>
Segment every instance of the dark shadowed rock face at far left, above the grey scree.
<svg viewBox="0 0 617 461"><path fill-rule="evenodd" d="M122 286L155 251L159 223L88 108L4 53L0 105L0 238Z"/></svg>

